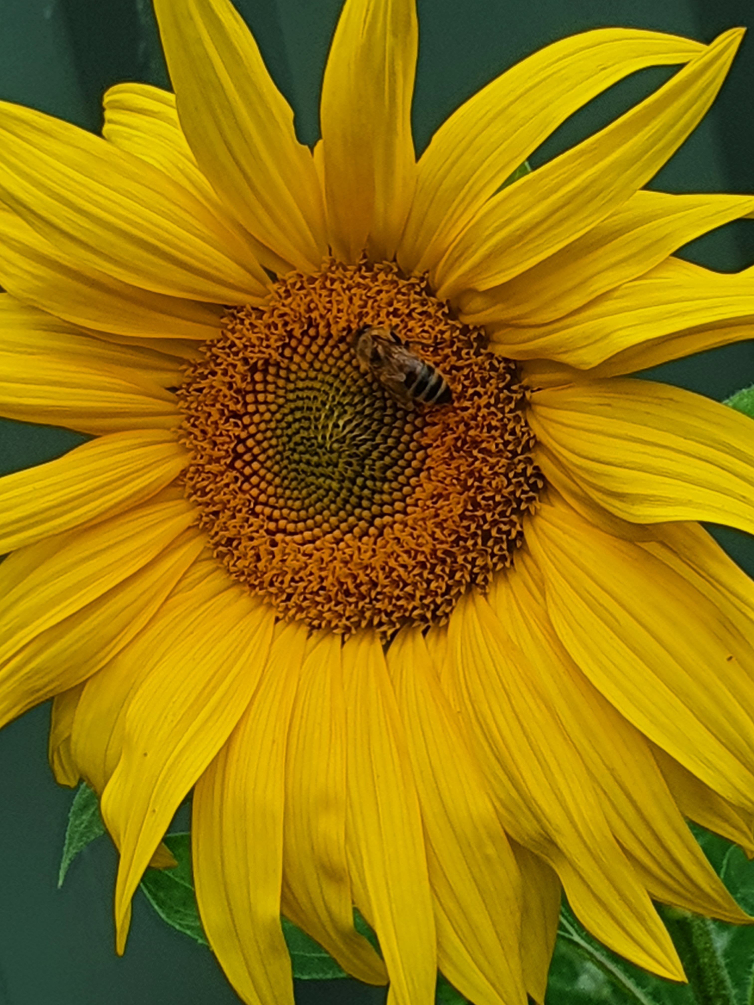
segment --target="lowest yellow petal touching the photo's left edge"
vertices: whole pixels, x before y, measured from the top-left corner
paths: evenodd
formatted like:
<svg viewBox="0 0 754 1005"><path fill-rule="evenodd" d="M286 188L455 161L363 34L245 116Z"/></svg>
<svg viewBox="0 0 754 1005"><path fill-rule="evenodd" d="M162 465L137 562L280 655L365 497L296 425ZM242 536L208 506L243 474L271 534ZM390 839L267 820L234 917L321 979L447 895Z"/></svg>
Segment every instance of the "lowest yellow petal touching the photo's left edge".
<svg viewBox="0 0 754 1005"><path fill-rule="evenodd" d="M195 531L181 535L144 568L41 630L3 659L2 722L85 680L128 645L159 609L202 545Z"/></svg>

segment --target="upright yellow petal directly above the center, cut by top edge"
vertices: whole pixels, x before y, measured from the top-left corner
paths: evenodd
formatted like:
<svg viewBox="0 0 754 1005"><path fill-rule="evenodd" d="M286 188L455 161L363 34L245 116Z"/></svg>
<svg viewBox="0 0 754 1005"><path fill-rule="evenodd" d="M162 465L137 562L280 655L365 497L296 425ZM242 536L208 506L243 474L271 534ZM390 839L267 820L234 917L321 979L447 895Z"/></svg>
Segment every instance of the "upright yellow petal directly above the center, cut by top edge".
<svg viewBox="0 0 754 1005"><path fill-rule="evenodd" d="M357 262L390 259L415 184L411 97L414 0L346 0L322 83L322 150L330 242Z"/></svg>

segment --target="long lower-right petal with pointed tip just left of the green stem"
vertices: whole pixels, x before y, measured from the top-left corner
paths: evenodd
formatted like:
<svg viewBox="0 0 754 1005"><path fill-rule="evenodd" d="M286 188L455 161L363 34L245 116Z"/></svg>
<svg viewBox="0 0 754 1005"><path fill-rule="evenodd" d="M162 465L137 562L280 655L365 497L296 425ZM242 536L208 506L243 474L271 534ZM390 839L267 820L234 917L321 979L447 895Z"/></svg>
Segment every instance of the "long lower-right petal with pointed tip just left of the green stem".
<svg viewBox="0 0 754 1005"><path fill-rule="evenodd" d="M586 768L489 604L467 595L449 641L469 738L506 830L556 869L582 924L621 956L675 980L673 943L612 836Z"/></svg>

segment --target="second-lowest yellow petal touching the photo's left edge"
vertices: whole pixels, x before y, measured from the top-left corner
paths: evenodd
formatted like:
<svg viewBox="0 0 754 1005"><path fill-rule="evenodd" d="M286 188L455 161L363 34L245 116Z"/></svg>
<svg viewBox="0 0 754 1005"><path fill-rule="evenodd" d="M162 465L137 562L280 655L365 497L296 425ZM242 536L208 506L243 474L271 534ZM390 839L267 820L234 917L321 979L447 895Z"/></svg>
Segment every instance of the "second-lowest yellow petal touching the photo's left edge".
<svg viewBox="0 0 754 1005"><path fill-rule="evenodd" d="M151 501L9 555L0 566L0 662L142 569L195 520L185 499Z"/></svg>

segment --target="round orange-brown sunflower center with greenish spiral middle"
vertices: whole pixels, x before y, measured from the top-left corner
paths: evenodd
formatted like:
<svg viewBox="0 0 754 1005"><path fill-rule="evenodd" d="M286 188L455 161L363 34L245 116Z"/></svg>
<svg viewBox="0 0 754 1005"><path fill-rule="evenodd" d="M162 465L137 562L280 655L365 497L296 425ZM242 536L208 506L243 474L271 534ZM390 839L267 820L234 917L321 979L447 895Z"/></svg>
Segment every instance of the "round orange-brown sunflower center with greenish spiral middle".
<svg viewBox="0 0 754 1005"><path fill-rule="evenodd" d="M179 396L215 555L314 628L443 622L511 564L543 484L516 365L392 264L233 308Z"/></svg>

